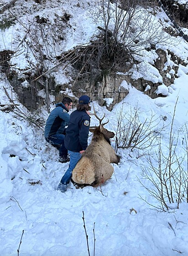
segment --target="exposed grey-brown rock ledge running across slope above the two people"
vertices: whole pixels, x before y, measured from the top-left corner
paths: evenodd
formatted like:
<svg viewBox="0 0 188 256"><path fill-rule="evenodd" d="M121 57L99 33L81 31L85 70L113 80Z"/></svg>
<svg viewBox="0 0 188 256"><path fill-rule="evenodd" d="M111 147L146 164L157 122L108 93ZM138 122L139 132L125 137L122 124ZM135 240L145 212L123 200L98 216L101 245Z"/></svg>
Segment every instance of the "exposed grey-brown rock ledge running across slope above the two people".
<svg viewBox="0 0 188 256"><path fill-rule="evenodd" d="M147 49L148 51L151 49ZM187 65L183 60L170 51L157 49L158 58L154 62L154 67L162 76L162 82L168 87L174 82L174 78L178 77L178 65ZM7 59L4 53L0 54L4 60ZM172 60L173 65L167 66L167 60ZM5 72L8 71L6 61ZM166 97L166 95L156 94L157 87L162 83L153 83L146 81L144 78L133 79L129 74L130 65L127 70L119 70L121 72L111 72L96 76L89 73L83 73L78 77L79 71L69 73L69 81L61 84L57 83L53 76L48 77L48 90L51 95L55 96L55 103L61 102L63 97L68 96L73 99L73 106L78 102L78 98L87 94L91 100L97 100L99 105L106 106L110 111L116 103L119 103L129 93L128 84L136 87L136 89L147 94L151 98ZM27 81L22 81L16 76L16 73L7 74L10 84L16 91L20 102L26 106L27 109L33 111L38 109L41 105L46 104L45 94L45 76L38 79L36 82L31 82L32 77ZM43 90L43 93L39 93ZM70 96L72 95L72 96Z"/></svg>

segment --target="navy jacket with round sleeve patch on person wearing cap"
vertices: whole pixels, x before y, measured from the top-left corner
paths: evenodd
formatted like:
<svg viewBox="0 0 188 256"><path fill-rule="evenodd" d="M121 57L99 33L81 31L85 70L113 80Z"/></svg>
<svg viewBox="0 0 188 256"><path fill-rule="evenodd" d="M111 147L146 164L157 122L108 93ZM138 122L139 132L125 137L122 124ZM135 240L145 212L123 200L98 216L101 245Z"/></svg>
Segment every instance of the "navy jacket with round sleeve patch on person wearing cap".
<svg viewBox="0 0 188 256"><path fill-rule="evenodd" d="M88 147L90 116L85 110L75 110L70 115L70 121L65 135L65 147L73 152L86 150Z"/></svg>

